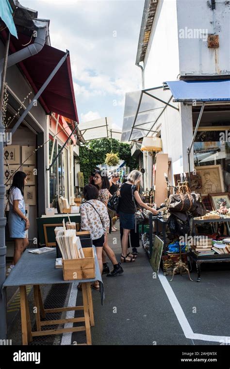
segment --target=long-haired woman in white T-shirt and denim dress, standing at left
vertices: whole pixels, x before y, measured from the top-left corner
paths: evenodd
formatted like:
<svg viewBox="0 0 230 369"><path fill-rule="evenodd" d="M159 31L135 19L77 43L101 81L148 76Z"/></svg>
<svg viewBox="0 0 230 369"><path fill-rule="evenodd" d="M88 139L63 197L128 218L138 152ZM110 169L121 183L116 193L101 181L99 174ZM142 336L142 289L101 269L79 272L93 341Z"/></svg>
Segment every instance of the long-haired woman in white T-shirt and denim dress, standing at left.
<svg viewBox="0 0 230 369"><path fill-rule="evenodd" d="M23 251L29 245L26 236L26 230L30 227L29 219L26 217L25 202L24 202L24 186L27 175L24 172L16 172L13 177L13 183L8 192L9 195L9 216L8 226L10 237L15 239L15 251L13 264L7 270L10 273L15 264L20 259Z"/></svg>

